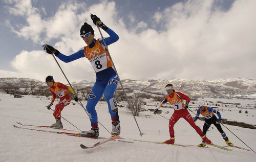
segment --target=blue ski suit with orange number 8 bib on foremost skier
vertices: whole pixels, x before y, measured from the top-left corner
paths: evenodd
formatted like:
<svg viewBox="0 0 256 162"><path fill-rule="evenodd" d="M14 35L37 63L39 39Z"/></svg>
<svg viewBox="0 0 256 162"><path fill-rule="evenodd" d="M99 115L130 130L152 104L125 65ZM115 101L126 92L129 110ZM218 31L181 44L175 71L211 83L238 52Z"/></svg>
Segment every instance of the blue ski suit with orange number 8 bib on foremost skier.
<svg viewBox="0 0 256 162"><path fill-rule="evenodd" d="M106 30L110 37L104 38L106 45L110 45L119 39L119 36L110 28ZM104 94L105 100L108 103L109 112L112 121L119 121L117 103L114 99L114 92L117 88L119 79L113 68L110 56L103 40L94 39L90 45L80 49L78 52L66 56L61 53L57 57L63 62L71 62L81 57L86 57L92 64L96 72L96 82L89 94L86 109L89 113L89 118L92 127L98 127L98 116L95 106Z"/></svg>

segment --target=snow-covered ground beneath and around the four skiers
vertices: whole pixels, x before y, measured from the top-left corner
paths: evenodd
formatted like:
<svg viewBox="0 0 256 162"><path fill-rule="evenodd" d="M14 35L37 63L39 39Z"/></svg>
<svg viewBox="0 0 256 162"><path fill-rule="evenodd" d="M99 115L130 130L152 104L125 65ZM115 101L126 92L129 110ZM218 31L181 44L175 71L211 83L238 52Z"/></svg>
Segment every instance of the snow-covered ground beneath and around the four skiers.
<svg viewBox="0 0 256 162"><path fill-rule="evenodd" d="M218 100L219 101L219 100ZM243 102L243 101L236 101ZM253 104L253 100L246 101ZM83 137L73 137L65 134L38 132L25 129L16 129L12 125L16 122L33 125L51 125L55 123L51 110L45 106L50 103L50 98L25 96L13 98L7 94L0 94L0 161L255 161L256 154L253 151L245 151L232 148L225 151L209 146L209 148L181 147L172 145L160 145L153 143L134 142L121 143L112 141L93 149L81 149L80 144L93 145L100 140ZM55 104L57 102L55 101ZM75 103L73 101L73 103ZM54 105L55 105L54 104ZM86 101L83 101L84 106ZM146 108L155 109L155 105ZM54 108L54 106L53 106ZM190 104L191 110L196 112L196 105ZM96 106L99 122L111 131L111 118L105 102L99 102ZM173 109L162 108L163 117L169 119ZM220 108L222 117L231 121L256 124L256 109L246 109L248 113L239 113L239 109ZM165 113L169 111L169 113ZM190 112L191 113L191 112ZM140 117L136 117L143 136L135 123L130 110L119 108L121 135L127 141L130 138L137 140L164 142L169 139L168 120L155 115L150 111L143 111ZM191 113L194 117L194 114ZM89 118L83 108L78 104L70 104L62 111L62 117L70 121L80 130L91 128ZM74 126L62 119L64 128L77 130ZM203 122L196 124L202 128ZM256 151L256 130L226 125L245 144ZM100 136L109 137L110 133L101 125ZM46 128L49 129L49 128ZM55 129L51 129L55 130ZM236 136L223 127L234 145L247 148ZM57 131L57 130L56 130ZM79 130L77 130L79 132ZM175 137L177 144L198 145L200 136L184 120L180 119L175 125ZM214 127L209 129L207 137L212 143L226 145L221 134Z"/></svg>

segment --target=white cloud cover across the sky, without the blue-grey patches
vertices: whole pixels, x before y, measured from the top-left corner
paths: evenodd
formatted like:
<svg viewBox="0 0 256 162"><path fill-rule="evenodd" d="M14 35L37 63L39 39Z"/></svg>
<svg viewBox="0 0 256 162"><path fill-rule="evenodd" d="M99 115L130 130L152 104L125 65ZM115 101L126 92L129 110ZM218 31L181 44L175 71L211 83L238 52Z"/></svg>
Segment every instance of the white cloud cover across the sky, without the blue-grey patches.
<svg viewBox="0 0 256 162"><path fill-rule="evenodd" d="M14 12L15 7L10 11L26 18L27 25L18 31L24 38L44 43L56 39L51 45L65 55L85 45L79 38L84 21L92 25L95 37L100 37L90 18L90 13L96 14L120 37L109 50L121 79L256 77L256 22L252 17L256 14L253 8L256 2L237 0L228 11L214 8L213 3L187 1L158 10L153 14L157 29L147 22L135 21L136 17L132 20L140 23L127 29L115 3L108 1L89 7L83 3L63 3L53 17L46 19L41 19L38 9L29 3L27 7L22 3L23 9L33 15L25 14L22 9ZM81 8L84 10L78 13ZM46 35L42 39L37 37L40 34ZM104 31L102 34L108 36ZM95 74L86 58L71 63L58 61L70 80L94 81ZM12 66L25 76L37 76L36 79L49 73L59 78L62 75L53 58L43 51L23 51L12 61Z"/></svg>

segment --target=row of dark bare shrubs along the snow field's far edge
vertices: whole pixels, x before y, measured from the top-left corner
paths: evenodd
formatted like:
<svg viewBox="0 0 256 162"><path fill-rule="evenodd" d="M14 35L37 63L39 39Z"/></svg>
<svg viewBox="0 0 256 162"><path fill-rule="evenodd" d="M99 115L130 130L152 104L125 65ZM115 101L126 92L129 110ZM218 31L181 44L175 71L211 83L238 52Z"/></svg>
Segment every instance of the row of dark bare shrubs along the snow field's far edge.
<svg viewBox="0 0 256 162"><path fill-rule="evenodd" d="M91 92L92 86L75 86L75 92L77 93L80 100L88 100L89 94ZM51 96L51 92L49 90L49 87L44 84L43 82L38 81L27 81L20 83L19 85L9 83L9 82L2 82L0 85L0 91L13 95L14 98L21 98L23 95L33 95L33 96ZM133 93L133 90L131 89L125 89L126 94ZM69 95L71 99L74 99L71 92L69 92ZM116 90L114 94L114 98L117 102L120 101L126 101L125 95L123 90ZM146 104L146 102L143 101L143 99L153 99L154 101L160 101L162 97L156 97L156 95L146 95L143 94L134 94L128 96L130 106L126 107L127 109L133 109L134 115L139 116L139 112L143 109L143 105ZM101 101L105 101L104 96L101 97Z"/></svg>

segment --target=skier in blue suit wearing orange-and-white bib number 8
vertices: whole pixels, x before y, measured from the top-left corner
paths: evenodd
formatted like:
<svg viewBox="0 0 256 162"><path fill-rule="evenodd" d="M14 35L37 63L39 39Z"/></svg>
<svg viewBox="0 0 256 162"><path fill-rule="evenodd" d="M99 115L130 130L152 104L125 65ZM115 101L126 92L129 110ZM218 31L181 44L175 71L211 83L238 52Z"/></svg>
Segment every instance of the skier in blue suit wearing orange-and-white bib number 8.
<svg viewBox="0 0 256 162"><path fill-rule="evenodd" d="M109 34L109 37L104 38L106 45L110 45L119 39L118 35L113 30L106 27L96 15L91 14L91 18L95 25L98 25L102 30ZM85 22L80 29L80 37L84 42L86 42L87 46L70 56L61 54L58 50L47 44L44 45L44 50L49 54L56 55L56 57L63 62L71 62L79 58L86 57L96 72L96 82L89 94L86 105L92 128L89 131L81 131L81 134L84 136L96 137L99 135L98 116L95 106L104 94L112 119L111 134L119 135L119 115L117 103L114 99L114 92L117 88L119 79L113 68L110 55L106 50L103 40L101 38L97 40L94 38L94 30L89 24L87 24L87 22Z"/></svg>

